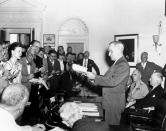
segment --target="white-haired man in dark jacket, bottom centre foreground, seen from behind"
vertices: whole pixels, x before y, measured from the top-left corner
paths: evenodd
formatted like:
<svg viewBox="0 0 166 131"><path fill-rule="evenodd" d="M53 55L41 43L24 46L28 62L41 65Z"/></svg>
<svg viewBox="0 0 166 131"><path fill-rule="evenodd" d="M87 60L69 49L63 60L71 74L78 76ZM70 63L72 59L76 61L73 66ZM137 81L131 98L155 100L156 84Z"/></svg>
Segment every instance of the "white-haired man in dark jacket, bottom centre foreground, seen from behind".
<svg viewBox="0 0 166 131"><path fill-rule="evenodd" d="M59 110L64 123L71 127L71 131L109 131L105 122L95 122L83 118L79 106L74 102L67 102Z"/></svg>

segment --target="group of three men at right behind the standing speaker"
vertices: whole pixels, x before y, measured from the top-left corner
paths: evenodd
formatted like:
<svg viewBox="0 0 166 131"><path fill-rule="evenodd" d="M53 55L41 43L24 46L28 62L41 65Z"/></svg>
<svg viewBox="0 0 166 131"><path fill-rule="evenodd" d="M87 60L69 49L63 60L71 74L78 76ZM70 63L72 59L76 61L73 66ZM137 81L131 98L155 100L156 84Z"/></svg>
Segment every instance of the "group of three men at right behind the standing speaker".
<svg viewBox="0 0 166 131"><path fill-rule="evenodd" d="M148 61L147 52L141 54L141 62L136 65L128 82L125 116L135 109L150 112L161 106L165 92L165 86L162 86L164 73L165 68Z"/></svg>

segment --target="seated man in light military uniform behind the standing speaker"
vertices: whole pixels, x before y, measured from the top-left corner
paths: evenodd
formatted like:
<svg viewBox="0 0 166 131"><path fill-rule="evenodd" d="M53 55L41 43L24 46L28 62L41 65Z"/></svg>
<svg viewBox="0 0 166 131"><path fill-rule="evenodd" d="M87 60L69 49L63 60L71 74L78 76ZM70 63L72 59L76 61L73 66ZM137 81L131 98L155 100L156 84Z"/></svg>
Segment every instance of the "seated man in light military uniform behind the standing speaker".
<svg viewBox="0 0 166 131"><path fill-rule="evenodd" d="M141 80L141 72L139 70L136 69L133 71L132 79L133 82L130 86L126 106L130 106L137 99L144 98L149 93L147 85Z"/></svg>

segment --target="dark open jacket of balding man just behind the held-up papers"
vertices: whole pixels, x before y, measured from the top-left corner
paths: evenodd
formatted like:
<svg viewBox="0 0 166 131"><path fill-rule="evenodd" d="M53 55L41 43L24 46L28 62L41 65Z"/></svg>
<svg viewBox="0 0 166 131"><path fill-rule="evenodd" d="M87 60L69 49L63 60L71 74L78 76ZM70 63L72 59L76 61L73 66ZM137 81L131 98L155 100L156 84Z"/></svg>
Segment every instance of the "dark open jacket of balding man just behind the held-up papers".
<svg viewBox="0 0 166 131"><path fill-rule="evenodd" d="M82 66L83 66L83 60L78 61L78 63ZM98 66L96 65L96 63L93 60L88 59L87 70L92 72L92 68L96 71L97 75L100 75L100 70L99 70Z"/></svg>

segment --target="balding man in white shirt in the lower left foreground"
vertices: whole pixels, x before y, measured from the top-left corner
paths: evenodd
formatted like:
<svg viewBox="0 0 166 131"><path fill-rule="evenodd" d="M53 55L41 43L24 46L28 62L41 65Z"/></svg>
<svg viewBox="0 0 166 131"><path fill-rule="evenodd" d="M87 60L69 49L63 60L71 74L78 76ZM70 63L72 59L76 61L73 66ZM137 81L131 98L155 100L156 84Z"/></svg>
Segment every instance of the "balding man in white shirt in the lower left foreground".
<svg viewBox="0 0 166 131"><path fill-rule="evenodd" d="M21 116L29 98L29 91L24 85L10 84L1 96L0 130L1 131L44 131L43 125L19 126L15 120Z"/></svg>

